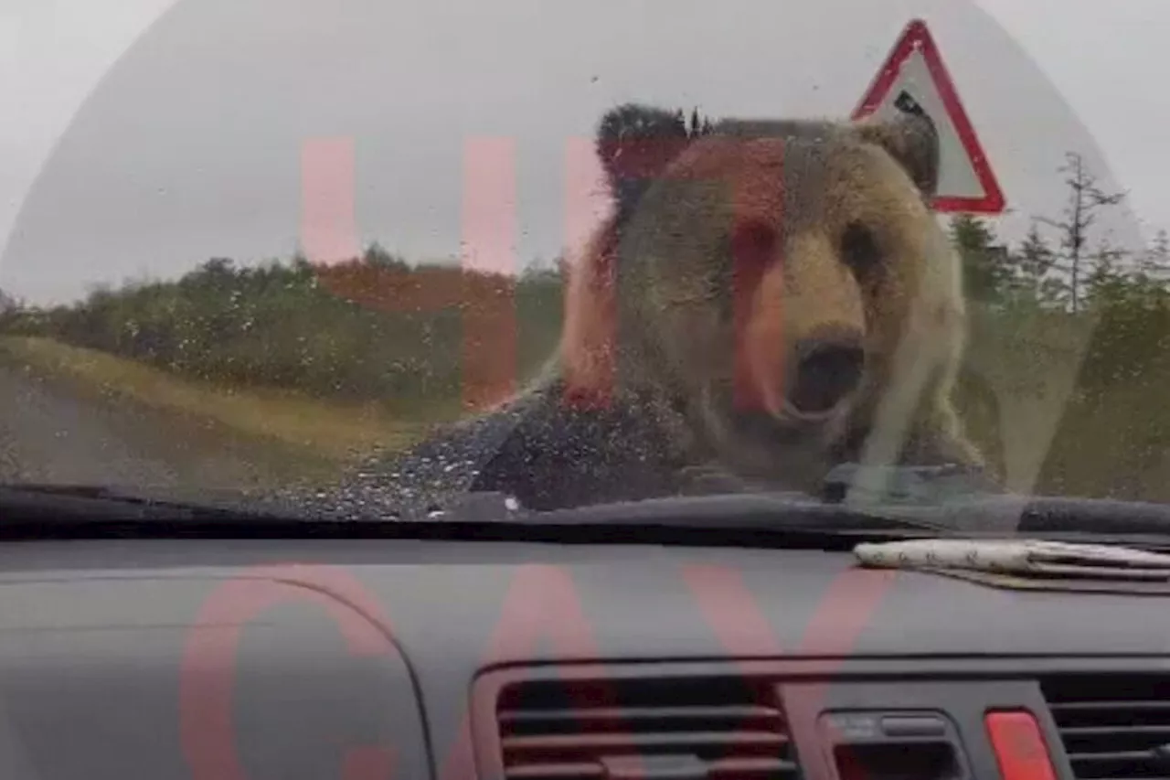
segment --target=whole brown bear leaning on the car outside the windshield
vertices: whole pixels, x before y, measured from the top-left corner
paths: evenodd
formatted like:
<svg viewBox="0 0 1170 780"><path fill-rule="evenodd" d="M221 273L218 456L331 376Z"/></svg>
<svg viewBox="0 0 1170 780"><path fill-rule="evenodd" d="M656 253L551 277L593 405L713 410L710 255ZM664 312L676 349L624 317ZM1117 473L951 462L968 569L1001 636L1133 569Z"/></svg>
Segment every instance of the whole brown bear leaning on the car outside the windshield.
<svg viewBox="0 0 1170 780"><path fill-rule="evenodd" d="M842 463L982 466L950 402L966 312L929 119L693 134L626 104L597 149L614 208L571 266L557 355L376 470L391 502L495 491L541 511L814 492Z"/></svg>

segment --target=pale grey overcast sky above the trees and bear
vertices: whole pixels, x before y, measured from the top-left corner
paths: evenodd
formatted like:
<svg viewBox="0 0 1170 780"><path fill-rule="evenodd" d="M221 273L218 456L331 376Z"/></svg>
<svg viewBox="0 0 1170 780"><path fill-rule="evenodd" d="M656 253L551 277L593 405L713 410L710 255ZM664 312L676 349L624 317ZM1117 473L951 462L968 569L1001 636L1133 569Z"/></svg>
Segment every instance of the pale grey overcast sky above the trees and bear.
<svg viewBox="0 0 1170 780"><path fill-rule="evenodd" d="M1013 214L1055 215L1066 150L1170 227L1166 0L0 0L0 286L35 301L288 255L301 156L356 149L362 241L460 252L463 144L515 141L524 261L565 237L565 145L622 100L847 115L914 16Z"/></svg>

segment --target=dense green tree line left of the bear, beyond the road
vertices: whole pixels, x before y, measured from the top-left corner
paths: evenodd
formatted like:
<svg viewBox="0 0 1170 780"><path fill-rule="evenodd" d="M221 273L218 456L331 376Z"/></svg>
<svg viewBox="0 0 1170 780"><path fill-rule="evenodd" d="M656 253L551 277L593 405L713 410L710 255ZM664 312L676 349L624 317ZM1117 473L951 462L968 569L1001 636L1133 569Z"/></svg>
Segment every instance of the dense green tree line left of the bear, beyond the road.
<svg viewBox="0 0 1170 780"><path fill-rule="evenodd" d="M468 307L514 301L518 360L535 367L559 331L560 275L411 265L378 245L329 265L303 255L257 266L213 258L174 281L96 289L67 306L9 306L0 330L216 384L408 405L459 395Z"/></svg>

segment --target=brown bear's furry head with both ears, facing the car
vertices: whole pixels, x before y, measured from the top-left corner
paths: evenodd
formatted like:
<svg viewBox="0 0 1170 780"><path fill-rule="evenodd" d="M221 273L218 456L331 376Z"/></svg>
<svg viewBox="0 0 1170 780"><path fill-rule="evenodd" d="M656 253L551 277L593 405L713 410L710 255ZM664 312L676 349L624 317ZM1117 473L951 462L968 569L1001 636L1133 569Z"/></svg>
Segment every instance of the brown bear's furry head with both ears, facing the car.
<svg viewBox="0 0 1170 780"><path fill-rule="evenodd" d="M965 309L930 207L929 119L725 119L696 135L626 104L597 148L614 210L570 280L571 385L638 404L681 458L745 477L858 459L879 424L894 459L958 436ZM943 454L976 457L957 450Z"/></svg>

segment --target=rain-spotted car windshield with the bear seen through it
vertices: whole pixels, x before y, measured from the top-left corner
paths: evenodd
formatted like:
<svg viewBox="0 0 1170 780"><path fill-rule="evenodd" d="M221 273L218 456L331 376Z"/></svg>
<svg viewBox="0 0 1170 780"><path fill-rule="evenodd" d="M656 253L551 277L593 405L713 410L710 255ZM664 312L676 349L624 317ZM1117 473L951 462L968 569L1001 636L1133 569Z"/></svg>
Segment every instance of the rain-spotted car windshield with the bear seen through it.
<svg viewBox="0 0 1170 780"><path fill-rule="evenodd" d="M1164 4L7 15L0 483L1170 501Z"/></svg>

